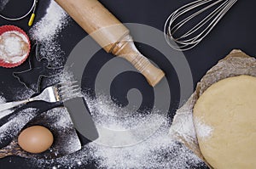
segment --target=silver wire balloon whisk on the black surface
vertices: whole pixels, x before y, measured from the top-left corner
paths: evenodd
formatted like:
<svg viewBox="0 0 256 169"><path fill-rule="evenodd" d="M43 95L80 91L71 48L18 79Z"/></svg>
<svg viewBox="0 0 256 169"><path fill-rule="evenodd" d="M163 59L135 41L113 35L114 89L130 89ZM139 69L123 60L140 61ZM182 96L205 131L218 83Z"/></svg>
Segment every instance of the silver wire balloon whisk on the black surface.
<svg viewBox="0 0 256 169"><path fill-rule="evenodd" d="M236 2L237 0L197 0L178 8L166 20L166 42L178 51L194 48ZM200 16L202 18L195 20Z"/></svg>

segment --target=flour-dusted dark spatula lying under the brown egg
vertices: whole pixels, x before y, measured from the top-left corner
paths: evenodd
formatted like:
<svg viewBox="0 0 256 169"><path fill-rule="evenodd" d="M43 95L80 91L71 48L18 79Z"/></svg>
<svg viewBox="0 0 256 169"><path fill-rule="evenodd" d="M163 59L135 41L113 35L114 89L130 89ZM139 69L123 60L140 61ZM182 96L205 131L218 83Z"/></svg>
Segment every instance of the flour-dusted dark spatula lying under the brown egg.
<svg viewBox="0 0 256 169"><path fill-rule="evenodd" d="M60 124L65 121L63 127L55 124ZM22 150L17 142L17 137L6 147L0 149L0 158L9 155L18 155L25 158L44 158L54 159L63 155L69 155L81 149L81 143L77 132L73 127L68 111L64 107L55 108L38 115L32 121L28 122L24 128L32 126L44 126L53 132L55 141L49 150L40 154L31 154ZM63 134L65 133L65 134Z"/></svg>

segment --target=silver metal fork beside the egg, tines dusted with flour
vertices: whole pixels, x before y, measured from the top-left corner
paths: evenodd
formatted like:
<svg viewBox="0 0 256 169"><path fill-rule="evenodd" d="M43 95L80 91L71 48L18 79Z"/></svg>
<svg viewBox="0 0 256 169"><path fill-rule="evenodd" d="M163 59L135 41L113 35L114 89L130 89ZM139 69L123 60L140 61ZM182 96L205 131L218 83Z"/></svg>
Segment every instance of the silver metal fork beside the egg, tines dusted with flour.
<svg viewBox="0 0 256 169"><path fill-rule="evenodd" d="M11 108L15 108L20 104L26 104L32 101L45 101L49 103L54 103L64 102L68 99L82 97L80 87L76 83L77 82L58 83L54 86L45 88L42 93L38 94L38 96L35 96L33 98L0 104L0 111L9 110Z"/></svg>

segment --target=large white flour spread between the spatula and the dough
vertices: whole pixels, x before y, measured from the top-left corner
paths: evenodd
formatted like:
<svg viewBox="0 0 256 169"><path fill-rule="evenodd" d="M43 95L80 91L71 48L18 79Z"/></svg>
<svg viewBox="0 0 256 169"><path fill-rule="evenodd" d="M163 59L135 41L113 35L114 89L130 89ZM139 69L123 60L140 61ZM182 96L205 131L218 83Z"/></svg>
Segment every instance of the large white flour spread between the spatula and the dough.
<svg viewBox="0 0 256 169"><path fill-rule="evenodd" d="M98 168L172 168L183 169L203 165L203 162L193 154L184 145L177 143L168 134L169 123L168 119L161 115L129 115L128 110L121 110L117 105L114 105L111 100L106 100L106 97L101 97L96 100L86 98L86 103L89 104L92 116L96 125L109 127L112 130L128 130L137 128L140 124L154 125L161 123L153 134L148 138L144 138L137 144L131 144L124 147L111 147L98 144L97 140L90 144L85 144L82 149L72 155L63 156L61 158L45 161L33 160L32 163L44 168L85 168L91 163ZM123 111L123 112L121 112ZM125 112L124 112L125 111ZM117 118L116 113L126 114L124 118ZM148 127L144 126L144 127ZM131 130L131 135L125 135L125 138L119 139L126 144L126 141L141 138L144 131ZM101 133L99 132L99 137ZM107 136L112 142L116 142L112 135Z"/></svg>

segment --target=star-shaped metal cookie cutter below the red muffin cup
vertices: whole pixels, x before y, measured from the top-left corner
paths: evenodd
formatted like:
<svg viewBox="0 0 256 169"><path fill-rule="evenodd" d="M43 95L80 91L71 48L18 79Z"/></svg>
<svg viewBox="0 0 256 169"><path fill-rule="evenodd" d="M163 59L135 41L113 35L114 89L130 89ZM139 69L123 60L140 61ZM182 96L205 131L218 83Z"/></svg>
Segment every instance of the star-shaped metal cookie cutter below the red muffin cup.
<svg viewBox="0 0 256 169"><path fill-rule="evenodd" d="M36 42L32 47L31 57L28 59L29 69L14 72L13 76L19 80L27 89L32 89L35 93L39 93L42 79L59 76L63 67L51 67L50 61L46 57L39 54L41 44ZM27 77L30 78L27 78Z"/></svg>

